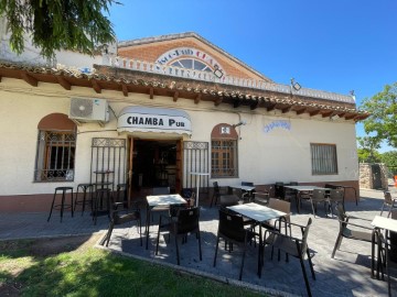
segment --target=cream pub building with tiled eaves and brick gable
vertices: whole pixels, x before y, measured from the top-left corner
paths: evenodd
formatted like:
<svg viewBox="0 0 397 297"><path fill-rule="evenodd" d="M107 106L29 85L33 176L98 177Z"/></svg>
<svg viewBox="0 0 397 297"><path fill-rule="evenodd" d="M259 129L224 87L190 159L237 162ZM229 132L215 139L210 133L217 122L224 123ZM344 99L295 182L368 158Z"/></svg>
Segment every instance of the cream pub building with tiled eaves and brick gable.
<svg viewBox="0 0 397 297"><path fill-rule="evenodd" d="M58 65L0 37L0 211L47 211L55 187L97 170L132 199L195 187L192 172L210 174L204 194L215 180L358 188L355 123L368 114L352 96L277 84L195 33Z"/></svg>

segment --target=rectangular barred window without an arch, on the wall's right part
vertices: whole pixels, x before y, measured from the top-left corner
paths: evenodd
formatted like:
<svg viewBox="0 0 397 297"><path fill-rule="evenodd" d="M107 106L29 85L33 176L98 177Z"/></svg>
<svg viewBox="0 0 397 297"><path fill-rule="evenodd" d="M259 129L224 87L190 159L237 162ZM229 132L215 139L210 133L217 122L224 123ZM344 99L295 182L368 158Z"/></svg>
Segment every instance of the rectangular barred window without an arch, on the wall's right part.
<svg viewBox="0 0 397 297"><path fill-rule="evenodd" d="M336 145L310 144L312 174L337 174Z"/></svg>

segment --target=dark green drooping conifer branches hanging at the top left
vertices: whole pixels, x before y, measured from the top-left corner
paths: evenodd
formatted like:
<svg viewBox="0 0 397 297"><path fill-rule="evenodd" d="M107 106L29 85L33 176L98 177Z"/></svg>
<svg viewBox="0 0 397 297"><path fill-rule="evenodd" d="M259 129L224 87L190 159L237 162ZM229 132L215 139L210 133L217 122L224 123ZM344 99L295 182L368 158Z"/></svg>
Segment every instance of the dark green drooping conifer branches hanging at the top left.
<svg viewBox="0 0 397 297"><path fill-rule="evenodd" d="M71 50L93 54L98 44L115 41L111 22L103 13L115 0L0 0L7 19L10 47L21 54L24 36L41 48L44 57Z"/></svg>

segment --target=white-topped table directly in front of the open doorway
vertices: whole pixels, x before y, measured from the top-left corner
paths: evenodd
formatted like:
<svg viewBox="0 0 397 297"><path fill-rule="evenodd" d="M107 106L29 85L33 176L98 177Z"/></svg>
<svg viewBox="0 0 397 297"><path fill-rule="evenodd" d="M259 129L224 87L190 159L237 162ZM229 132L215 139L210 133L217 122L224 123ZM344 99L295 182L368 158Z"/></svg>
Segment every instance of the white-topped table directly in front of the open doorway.
<svg viewBox="0 0 397 297"><path fill-rule="evenodd" d="M147 196L147 223L144 228L144 232L147 233L147 242L146 249L148 250L149 245L149 226L150 226L150 215L151 210L154 207L169 207L169 206L183 206L187 204L185 199L181 197L179 194L165 194L165 195L152 195Z"/></svg>

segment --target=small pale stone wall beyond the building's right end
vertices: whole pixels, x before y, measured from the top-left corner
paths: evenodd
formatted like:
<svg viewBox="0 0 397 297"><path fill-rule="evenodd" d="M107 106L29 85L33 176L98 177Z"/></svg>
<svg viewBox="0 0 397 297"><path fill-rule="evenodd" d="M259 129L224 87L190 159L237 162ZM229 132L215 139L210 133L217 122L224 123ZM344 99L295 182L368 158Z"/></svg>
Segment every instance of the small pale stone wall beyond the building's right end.
<svg viewBox="0 0 397 297"><path fill-rule="evenodd" d="M383 163L360 163L360 188L387 189L387 167Z"/></svg>

